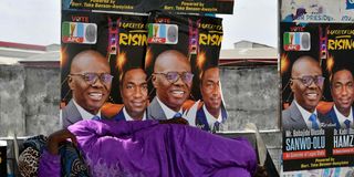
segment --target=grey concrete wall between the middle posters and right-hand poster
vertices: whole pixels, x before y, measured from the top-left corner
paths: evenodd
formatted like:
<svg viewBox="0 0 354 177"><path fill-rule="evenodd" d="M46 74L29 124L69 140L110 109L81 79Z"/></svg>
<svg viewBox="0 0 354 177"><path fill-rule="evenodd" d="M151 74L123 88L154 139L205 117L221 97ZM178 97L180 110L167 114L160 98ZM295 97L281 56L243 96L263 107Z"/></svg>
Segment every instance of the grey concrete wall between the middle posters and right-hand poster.
<svg viewBox="0 0 354 177"><path fill-rule="evenodd" d="M229 115L223 131L240 131L247 123L256 123L259 129L279 129L277 66L221 67L220 75Z"/></svg>

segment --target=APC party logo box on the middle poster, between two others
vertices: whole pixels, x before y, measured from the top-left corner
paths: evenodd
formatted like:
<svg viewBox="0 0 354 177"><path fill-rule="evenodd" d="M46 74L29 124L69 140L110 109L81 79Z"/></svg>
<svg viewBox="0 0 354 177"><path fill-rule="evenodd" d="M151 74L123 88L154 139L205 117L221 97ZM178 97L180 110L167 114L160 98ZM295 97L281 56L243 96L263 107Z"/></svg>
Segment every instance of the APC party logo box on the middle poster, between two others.
<svg viewBox="0 0 354 177"><path fill-rule="evenodd" d="M177 44L178 42L178 25L176 24L148 24L148 43L158 44Z"/></svg>

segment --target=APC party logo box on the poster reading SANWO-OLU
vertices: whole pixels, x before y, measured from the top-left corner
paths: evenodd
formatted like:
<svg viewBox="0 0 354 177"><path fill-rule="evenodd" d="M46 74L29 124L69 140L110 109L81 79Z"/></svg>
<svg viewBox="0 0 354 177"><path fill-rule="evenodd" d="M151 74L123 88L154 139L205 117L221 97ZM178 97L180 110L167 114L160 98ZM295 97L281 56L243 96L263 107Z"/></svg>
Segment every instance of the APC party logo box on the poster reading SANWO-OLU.
<svg viewBox="0 0 354 177"><path fill-rule="evenodd" d="M309 32L284 32L284 51L310 51L311 35Z"/></svg>

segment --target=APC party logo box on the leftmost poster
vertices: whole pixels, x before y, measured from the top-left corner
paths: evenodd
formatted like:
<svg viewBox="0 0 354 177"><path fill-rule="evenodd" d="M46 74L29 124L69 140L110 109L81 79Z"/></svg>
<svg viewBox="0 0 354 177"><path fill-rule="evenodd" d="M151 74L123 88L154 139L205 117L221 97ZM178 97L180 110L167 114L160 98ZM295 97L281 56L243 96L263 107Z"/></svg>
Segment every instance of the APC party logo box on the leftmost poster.
<svg viewBox="0 0 354 177"><path fill-rule="evenodd" d="M64 43L95 44L97 40L97 24L83 22L62 23L62 41Z"/></svg>

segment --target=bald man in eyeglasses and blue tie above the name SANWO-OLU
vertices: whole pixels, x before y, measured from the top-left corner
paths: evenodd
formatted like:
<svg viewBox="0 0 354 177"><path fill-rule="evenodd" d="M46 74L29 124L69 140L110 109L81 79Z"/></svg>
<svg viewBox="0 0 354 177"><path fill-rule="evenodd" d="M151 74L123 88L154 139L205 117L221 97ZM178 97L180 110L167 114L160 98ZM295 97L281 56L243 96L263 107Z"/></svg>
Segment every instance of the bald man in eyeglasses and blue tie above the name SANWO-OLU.
<svg viewBox="0 0 354 177"><path fill-rule="evenodd" d="M290 87L294 101L282 112L284 129L319 129L332 123L316 111L322 97L323 82L321 66L313 58L301 56L293 63Z"/></svg>

